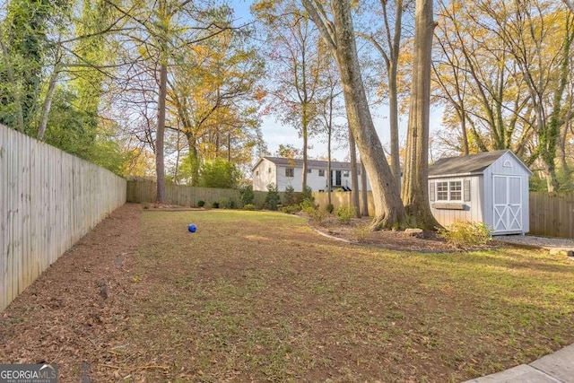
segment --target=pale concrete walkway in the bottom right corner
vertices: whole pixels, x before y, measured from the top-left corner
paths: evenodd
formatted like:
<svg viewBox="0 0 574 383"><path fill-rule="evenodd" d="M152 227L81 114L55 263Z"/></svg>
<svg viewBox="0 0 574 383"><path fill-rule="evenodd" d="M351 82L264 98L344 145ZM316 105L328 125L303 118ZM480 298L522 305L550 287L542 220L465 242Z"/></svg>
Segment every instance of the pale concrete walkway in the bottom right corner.
<svg viewBox="0 0 574 383"><path fill-rule="evenodd" d="M574 344L551 353L530 364L468 380L466 383L574 383Z"/></svg>

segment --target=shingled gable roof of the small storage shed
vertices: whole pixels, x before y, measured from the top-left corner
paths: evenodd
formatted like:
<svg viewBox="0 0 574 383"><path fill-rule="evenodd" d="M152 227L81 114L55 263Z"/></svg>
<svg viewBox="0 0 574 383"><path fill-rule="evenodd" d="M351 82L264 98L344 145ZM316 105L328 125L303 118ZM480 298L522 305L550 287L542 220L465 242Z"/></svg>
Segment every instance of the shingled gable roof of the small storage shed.
<svg viewBox="0 0 574 383"><path fill-rule="evenodd" d="M516 154L509 149L481 152L478 154L463 155L459 157L443 157L429 167L429 177L437 177L451 174L481 174L492 163L500 159L507 152L526 169L526 165L517 158ZM530 170L528 170L530 171Z"/></svg>

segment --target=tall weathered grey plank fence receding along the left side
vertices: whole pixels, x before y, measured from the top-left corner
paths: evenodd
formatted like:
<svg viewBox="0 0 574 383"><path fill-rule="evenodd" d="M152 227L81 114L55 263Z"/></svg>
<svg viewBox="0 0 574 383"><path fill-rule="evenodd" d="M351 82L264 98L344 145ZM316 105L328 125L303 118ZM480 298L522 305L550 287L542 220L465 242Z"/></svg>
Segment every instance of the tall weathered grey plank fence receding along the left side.
<svg viewBox="0 0 574 383"><path fill-rule="evenodd" d="M0 310L126 202L126 180L0 125Z"/></svg>

